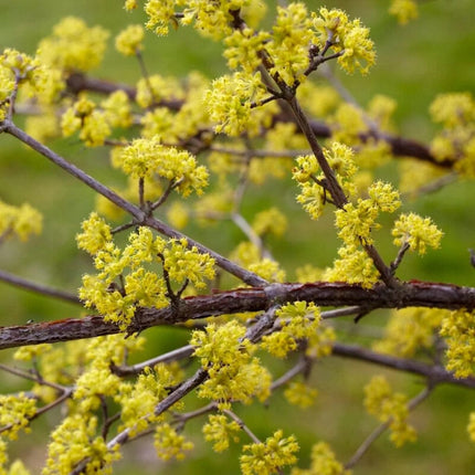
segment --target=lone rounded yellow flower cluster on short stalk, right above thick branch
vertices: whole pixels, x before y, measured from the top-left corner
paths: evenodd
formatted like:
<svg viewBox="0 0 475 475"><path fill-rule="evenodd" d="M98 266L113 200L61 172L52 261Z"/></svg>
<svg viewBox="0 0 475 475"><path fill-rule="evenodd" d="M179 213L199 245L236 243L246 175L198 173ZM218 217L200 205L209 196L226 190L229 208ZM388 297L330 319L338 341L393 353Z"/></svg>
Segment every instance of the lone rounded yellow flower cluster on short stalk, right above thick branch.
<svg viewBox="0 0 475 475"><path fill-rule="evenodd" d="M394 245L402 246L408 243L411 251L425 254L428 246L437 249L443 232L430 218L421 218L415 213L401 214L394 222L392 230Z"/></svg>

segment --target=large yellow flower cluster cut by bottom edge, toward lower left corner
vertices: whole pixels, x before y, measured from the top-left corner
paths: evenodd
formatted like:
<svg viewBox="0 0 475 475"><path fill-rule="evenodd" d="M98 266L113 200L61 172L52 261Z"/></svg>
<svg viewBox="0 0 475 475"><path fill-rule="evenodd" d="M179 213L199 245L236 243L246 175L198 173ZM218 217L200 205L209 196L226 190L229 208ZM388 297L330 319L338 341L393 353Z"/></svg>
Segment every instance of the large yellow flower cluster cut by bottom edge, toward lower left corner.
<svg viewBox="0 0 475 475"><path fill-rule="evenodd" d="M115 451L108 451L102 435L97 435L97 418L82 414L67 415L51 434L46 465L43 475L73 472L83 460L87 460L84 474L110 474L110 464L119 458Z"/></svg>

